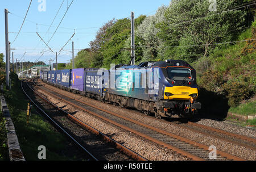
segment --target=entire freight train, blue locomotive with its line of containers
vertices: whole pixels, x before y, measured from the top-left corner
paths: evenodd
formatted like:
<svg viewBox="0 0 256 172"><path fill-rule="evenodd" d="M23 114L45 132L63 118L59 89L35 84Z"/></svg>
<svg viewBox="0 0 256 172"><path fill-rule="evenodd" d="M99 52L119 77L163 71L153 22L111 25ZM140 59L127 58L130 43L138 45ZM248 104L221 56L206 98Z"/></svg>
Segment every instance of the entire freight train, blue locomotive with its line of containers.
<svg viewBox="0 0 256 172"><path fill-rule="evenodd" d="M182 60L114 65L106 69L68 69L40 72L43 82L89 98L131 107L156 118L197 113L196 70Z"/></svg>

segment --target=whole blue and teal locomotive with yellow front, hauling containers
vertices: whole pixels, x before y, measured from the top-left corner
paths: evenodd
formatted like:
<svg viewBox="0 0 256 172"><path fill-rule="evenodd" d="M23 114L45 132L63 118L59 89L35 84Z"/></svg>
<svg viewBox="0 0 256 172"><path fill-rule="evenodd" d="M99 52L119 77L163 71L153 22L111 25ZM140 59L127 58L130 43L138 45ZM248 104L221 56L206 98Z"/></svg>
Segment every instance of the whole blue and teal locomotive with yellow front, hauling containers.
<svg viewBox="0 0 256 172"><path fill-rule="evenodd" d="M182 60L116 65L109 70L109 88L104 100L133 107L156 118L179 115L187 118L201 108L196 102L196 71Z"/></svg>

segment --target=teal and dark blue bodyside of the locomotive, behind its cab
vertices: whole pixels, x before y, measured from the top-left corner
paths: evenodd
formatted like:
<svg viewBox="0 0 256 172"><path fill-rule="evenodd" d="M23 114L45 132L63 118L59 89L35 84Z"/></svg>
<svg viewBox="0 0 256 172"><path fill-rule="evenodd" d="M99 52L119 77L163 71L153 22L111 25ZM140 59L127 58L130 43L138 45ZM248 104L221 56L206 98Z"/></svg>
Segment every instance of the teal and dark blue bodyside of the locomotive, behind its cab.
<svg viewBox="0 0 256 172"><path fill-rule="evenodd" d="M158 74L154 74L152 69L112 70L110 71L109 93L141 100L158 101Z"/></svg>

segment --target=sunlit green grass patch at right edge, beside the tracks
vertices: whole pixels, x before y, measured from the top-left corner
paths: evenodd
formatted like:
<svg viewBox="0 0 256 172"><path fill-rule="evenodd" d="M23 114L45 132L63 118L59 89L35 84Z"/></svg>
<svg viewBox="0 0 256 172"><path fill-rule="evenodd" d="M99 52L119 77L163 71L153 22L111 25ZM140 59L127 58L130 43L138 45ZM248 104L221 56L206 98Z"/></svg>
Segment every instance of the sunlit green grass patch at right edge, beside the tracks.
<svg viewBox="0 0 256 172"><path fill-rule="evenodd" d="M256 115L256 100L240 104L237 107L230 107L229 112L240 115Z"/></svg>

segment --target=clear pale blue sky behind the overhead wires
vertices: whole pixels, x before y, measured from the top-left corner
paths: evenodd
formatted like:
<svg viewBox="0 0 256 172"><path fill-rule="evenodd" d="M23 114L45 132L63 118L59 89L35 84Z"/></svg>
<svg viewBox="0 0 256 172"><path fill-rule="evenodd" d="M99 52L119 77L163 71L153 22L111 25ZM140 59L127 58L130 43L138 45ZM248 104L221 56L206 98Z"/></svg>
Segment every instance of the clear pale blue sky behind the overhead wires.
<svg viewBox="0 0 256 172"><path fill-rule="evenodd" d="M23 54L26 52L23 61L35 61L40 57L40 52L45 47L43 41L40 41L39 35L43 37L43 40L48 40L56 30L56 26L60 23L61 18L65 14L68 5L72 0L64 0L63 5L56 16L52 27L47 32L53 18L63 0L45 0L46 11L39 11L38 7L42 4L43 0L32 0L30 10L23 24L22 30L19 36L14 41L20 26L23 22L23 18L26 15L30 0L1 0L0 12L1 26L0 27L0 53L5 54L5 9L9 12L9 41L11 42L11 48L14 50L14 61L16 58L20 60ZM73 35L74 29L76 29L75 36L72 37L74 41L75 54L79 49L89 48L89 42L95 38L98 29L108 22L110 19L123 19L130 17L131 11L134 11L135 18L139 15L153 15L158 7L162 5L169 5L170 0L74 0L67 14L65 15L60 27L56 31L52 40L49 42L49 47L53 49L53 52L59 52L63 45ZM36 25L38 23L38 25ZM47 26L43 26L45 24ZM14 42L13 42L14 41ZM58 62L68 62L72 58L72 53L68 52L72 50L72 41L65 46L65 50L58 56ZM38 46L37 46L38 45ZM45 49L48 50L48 49ZM39 61L47 61L50 58L55 58L55 54L52 52L45 52ZM11 56L12 59L12 56Z"/></svg>

